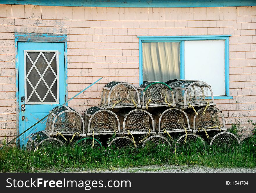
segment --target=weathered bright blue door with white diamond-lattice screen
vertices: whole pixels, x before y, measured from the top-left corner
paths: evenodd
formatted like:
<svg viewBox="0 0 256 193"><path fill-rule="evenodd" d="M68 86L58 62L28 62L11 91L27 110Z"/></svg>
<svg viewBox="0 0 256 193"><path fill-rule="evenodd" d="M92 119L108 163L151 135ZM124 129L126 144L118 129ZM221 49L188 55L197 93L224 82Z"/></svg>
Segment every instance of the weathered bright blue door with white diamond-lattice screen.
<svg viewBox="0 0 256 193"><path fill-rule="evenodd" d="M19 133L35 124L49 110L64 103L64 43L18 42ZM19 137L25 146L27 137L45 129L46 120Z"/></svg>

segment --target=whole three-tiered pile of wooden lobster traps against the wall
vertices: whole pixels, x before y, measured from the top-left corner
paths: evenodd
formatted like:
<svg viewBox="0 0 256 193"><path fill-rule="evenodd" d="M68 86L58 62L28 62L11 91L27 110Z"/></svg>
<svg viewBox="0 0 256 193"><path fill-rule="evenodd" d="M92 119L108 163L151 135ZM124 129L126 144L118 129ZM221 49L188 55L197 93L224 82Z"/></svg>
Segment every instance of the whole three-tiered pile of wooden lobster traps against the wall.
<svg viewBox="0 0 256 193"><path fill-rule="evenodd" d="M106 143L112 149L240 144L215 106L211 86L203 81L175 79L138 87L112 81L103 87L100 105L86 109L83 117L65 105L53 108L45 130L29 136L27 149L54 149L72 141L90 148Z"/></svg>

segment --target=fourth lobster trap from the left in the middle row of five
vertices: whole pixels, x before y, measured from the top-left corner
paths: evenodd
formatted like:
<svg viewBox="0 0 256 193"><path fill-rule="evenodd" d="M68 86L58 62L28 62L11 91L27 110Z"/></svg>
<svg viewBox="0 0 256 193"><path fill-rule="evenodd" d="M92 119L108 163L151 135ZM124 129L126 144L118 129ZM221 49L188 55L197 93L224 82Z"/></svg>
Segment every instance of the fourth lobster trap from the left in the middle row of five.
<svg viewBox="0 0 256 193"><path fill-rule="evenodd" d="M160 110L159 112L152 113L157 116L155 120L156 125L158 124L157 133L177 133L177 132L188 132L191 133L189 125L189 117L182 109L168 108L166 110ZM186 121L184 121L186 119ZM186 125L186 123L188 125Z"/></svg>

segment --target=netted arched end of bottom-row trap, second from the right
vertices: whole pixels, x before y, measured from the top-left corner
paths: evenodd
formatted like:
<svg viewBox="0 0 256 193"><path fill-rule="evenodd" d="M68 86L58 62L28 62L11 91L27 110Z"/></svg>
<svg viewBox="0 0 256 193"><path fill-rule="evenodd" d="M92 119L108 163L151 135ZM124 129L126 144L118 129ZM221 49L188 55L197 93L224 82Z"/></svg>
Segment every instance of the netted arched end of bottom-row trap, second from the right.
<svg viewBox="0 0 256 193"><path fill-rule="evenodd" d="M179 137L175 143L175 148L179 148L181 151L190 151L195 148L201 149L205 147L204 140L193 133L188 133Z"/></svg>

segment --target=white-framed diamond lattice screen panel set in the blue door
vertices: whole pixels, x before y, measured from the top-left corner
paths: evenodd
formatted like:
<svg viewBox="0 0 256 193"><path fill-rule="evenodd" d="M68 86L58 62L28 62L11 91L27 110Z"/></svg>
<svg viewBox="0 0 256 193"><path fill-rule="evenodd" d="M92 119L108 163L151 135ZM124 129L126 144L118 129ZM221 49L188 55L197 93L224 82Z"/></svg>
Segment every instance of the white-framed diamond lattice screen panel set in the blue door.
<svg viewBox="0 0 256 193"><path fill-rule="evenodd" d="M58 51L24 50L26 104L58 104Z"/></svg>

